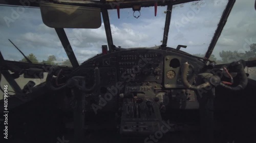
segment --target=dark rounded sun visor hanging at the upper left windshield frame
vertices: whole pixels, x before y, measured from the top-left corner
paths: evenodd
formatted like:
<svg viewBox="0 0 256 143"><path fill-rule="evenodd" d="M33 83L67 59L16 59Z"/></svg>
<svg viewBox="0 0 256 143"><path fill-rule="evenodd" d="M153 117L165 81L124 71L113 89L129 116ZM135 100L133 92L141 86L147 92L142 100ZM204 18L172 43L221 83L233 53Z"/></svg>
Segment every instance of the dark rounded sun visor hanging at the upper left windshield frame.
<svg viewBox="0 0 256 143"><path fill-rule="evenodd" d="M99 28L100 8L40 4L42 21L52 28Z"/></svg>

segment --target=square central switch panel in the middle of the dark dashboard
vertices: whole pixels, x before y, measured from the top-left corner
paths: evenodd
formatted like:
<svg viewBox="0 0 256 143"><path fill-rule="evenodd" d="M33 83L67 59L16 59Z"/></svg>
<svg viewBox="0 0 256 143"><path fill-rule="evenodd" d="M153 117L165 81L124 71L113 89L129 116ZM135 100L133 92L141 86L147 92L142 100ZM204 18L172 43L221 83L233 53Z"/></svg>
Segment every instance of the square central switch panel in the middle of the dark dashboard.
<svg viewBox="0 0 256 143"><path fill-rule="evenodd" d="M120 81L132 82L162 81L162 53L159 52L127 52L118 57ZM129 78L130 77L130 78Z"/></svg>

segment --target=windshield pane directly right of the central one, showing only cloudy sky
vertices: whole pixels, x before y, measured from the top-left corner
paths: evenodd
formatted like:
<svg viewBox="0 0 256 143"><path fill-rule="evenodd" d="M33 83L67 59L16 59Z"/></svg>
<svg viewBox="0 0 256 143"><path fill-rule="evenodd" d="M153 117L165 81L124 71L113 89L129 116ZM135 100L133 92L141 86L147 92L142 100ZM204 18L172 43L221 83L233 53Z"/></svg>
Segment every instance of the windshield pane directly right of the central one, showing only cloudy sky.
<svg viewBox="0 0 256 143"><path fill-rule="evenodd" d="M204 56L228 1L198 1L173 6L167 45Z"/></svg>

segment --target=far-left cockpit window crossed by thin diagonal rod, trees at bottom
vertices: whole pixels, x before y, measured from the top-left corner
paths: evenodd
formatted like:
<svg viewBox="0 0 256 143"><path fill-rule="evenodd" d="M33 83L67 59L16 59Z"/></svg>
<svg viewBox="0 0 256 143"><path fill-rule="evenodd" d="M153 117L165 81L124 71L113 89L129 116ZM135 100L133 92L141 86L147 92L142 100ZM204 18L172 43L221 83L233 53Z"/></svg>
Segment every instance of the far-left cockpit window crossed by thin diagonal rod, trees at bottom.
<svg viewBox="0 0 256 143"><path fill-rule="evenodd" d="M17 46L33 63L71 66L54 28L42 22L40 9L0 7L0 50L5 60L27 62Z"/></svg>

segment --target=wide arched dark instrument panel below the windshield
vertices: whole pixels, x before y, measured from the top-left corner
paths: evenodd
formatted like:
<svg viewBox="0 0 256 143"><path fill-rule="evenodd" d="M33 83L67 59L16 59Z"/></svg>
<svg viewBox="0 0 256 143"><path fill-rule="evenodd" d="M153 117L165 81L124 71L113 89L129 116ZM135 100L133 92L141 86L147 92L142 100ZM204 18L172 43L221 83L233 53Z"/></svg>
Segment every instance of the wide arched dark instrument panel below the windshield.
<svg viewBox="0 0 256 143"><path fill-rule="evenodd" d="M120 82L156 82L164 88L185 88L181 82L181 66L188 62L188 80L200 73L204 63L181 53L160 49L127 49L98 54L84 62L72 76L93 77L93 69L100 69L101 84ZM89 80L91 81L91 80ZM93 84L93 83L92 83Z"/></svg>

